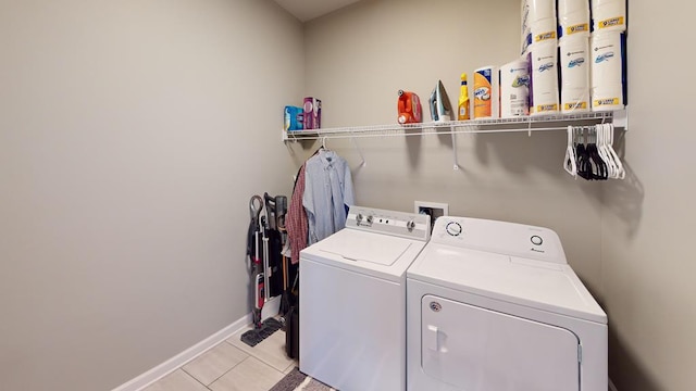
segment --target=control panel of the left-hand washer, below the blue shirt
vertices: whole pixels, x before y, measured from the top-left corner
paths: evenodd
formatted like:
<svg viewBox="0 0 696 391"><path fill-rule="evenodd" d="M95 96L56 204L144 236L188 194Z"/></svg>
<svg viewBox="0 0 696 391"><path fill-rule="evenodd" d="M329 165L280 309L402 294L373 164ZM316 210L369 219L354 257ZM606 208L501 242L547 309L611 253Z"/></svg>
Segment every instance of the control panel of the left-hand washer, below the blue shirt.
<svg viewBox="0 0 696 391"><path fill-rule="evenodd" d="M427 241L431 237L431 216L374 207L350 206L346 218L346 228Z"/></svg>

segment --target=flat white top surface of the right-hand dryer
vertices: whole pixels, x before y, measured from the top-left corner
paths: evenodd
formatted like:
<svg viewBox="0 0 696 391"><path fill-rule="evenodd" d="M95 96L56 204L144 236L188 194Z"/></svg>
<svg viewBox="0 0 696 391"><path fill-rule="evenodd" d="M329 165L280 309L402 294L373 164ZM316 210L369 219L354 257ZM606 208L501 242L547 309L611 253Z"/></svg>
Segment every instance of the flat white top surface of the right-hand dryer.
<svg viewBox="0 0 696 391"><path fill-rule="evenodd" d="M430 242L408 278L607 324L570 266Z"/></svg>

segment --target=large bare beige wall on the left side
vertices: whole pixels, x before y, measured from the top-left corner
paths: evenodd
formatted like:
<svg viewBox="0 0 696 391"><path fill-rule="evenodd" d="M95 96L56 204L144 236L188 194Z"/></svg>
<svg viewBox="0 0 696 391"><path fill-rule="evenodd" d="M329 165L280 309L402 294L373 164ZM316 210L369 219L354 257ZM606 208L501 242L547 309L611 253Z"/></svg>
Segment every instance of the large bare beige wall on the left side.
<svg viewBox="0 0 696 391"><path fill-rule="evenodd" d="M0 389L109 390L250 311L302 27L272 1L0 1Z"/></svg>

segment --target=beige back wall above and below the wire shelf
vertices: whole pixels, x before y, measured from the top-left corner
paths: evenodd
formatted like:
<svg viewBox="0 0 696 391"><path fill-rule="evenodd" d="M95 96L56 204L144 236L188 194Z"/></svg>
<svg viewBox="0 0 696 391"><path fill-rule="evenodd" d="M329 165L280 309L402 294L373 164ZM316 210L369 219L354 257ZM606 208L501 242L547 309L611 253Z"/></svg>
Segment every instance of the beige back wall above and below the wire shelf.
<svg viewBox="0 0 696 391"><path fill-rule="evenodd" d="M426 102L437 79L457 104L462 72L471 79L473 70L518 55L519 5L362 1L310 22L307 93L323 99L325 126L394 124L397 90L415 91ZM452 215L550 227L580 277L594 292L600 289L601 185L566 174L563 133L459 136L459 171L452 169L449 136L358 139L363 167L349 141L327 143L351 163L359 204L412 211L414 200L446 202Z"/></svg>

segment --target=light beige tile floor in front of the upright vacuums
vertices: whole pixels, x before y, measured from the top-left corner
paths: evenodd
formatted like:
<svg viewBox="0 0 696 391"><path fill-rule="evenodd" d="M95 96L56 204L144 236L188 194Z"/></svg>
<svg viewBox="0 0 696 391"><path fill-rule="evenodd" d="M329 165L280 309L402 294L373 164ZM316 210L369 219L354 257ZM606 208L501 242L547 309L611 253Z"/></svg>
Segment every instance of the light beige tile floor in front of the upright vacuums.
<svg viewBox="0 0 696 391"><path fill-rule="evenodd" d="M251 348L239 340L250 328L201 354L144 391L268 391L298 364L285 354L285 332Z"/></svg>

